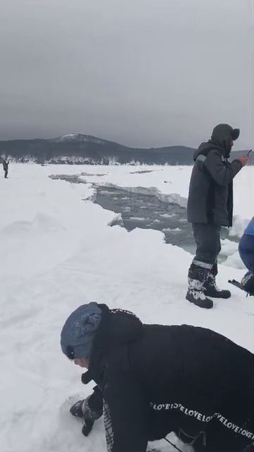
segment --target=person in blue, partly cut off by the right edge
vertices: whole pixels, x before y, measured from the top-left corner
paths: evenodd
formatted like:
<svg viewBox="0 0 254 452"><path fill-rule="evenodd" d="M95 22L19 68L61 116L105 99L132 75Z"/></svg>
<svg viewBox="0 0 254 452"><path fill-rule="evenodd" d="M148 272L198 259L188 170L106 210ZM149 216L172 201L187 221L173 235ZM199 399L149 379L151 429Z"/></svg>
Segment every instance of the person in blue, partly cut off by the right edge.
<svg viewBox="0 0 254 452"><path fill-rule="evenodd" d="M239 242L239 254L248 272L243 276L241 285L246 292L254 295L254 217L250 220Z"/></svg>

